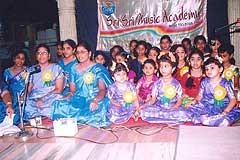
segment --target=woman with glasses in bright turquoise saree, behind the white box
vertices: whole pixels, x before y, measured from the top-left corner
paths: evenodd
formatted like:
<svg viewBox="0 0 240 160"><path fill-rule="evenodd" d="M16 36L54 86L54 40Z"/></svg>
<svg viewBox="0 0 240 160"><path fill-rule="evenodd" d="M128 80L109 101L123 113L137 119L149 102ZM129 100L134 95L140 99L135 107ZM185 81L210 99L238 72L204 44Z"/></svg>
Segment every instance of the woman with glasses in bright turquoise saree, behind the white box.
<svg viewBox="0 0 240 160"><path fill-rule="evenodd" d="M108 120L106 88L112 83L107 69L90 60L90 46L82 42L77 45L76 57L80 63L73 65L70 73L70 92L53 103L52 119L76 118L78 123L94 127L106 127Z"/></svg>

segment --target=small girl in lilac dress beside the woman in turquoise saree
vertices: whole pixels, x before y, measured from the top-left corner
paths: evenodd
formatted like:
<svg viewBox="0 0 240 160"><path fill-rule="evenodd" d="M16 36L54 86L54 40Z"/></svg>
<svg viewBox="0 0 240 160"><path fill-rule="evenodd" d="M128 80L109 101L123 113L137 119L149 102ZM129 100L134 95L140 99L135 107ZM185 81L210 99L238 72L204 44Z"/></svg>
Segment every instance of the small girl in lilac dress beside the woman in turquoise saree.
<svg viewBox="0 0 240 160"><path fill-rule="evenodd" d="M127 79L127 68L122 63L117 63L113 71L115 82L108 87L107 116L111 122L121 124L133 117L139 107L135 85Z"/></svg>

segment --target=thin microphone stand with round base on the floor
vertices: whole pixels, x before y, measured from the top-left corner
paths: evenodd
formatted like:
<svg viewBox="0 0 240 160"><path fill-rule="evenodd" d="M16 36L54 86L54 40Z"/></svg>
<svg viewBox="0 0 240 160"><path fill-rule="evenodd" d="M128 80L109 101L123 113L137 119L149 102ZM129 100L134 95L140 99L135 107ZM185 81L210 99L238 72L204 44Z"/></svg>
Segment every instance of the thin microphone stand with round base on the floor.
<svg viewBox="0 0 240 160"><path fill-rule="evenodd" d="M23 122L24 110L25 110L26 101L27 101L29 81L30 81L30 72L27 71L26 78L25 78L25 89L21 94L17 94L18 104L19 104L19 112L20 112L20 129L21 129L21 131L17 135L17 138L29 137L29 136L33 135L33 133L31 131L28 131L25 129L24 122Z"/></svg>

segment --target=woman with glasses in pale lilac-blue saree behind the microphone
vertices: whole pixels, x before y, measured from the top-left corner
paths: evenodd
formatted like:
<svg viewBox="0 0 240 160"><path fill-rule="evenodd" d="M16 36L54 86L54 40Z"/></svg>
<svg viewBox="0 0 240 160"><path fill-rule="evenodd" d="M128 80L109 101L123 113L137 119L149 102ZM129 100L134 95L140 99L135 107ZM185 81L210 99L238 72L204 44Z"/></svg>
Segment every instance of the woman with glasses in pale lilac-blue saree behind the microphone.
<svg viewBox="0 0 240 160"><path fill-rule="evenodd" d="M36 50L41 72L32 74L30 77L28 87L30 94L25 108L27 118L50 117L52 102L62 97L63 70L59 65L49 62L49 51L49 47L45 44L40 44Z"/></svg>

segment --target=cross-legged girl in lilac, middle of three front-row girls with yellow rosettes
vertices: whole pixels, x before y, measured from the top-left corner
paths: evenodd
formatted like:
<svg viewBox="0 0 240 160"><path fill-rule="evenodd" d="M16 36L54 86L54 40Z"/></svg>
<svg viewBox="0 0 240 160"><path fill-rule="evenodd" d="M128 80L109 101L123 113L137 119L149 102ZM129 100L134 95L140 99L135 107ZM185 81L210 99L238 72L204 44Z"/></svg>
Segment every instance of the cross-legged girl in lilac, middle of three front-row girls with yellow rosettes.
<svg viewBox="0 0 240 160"><path fill-rule="evenodd" d="M185 108L181 107L182 87L172 76L176 61L165 54L159 62L161 77L153 85L150 101L140 107L141 118L150 123L176 124L188 121Z"/></svg>

